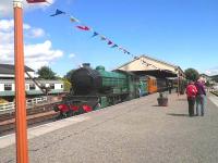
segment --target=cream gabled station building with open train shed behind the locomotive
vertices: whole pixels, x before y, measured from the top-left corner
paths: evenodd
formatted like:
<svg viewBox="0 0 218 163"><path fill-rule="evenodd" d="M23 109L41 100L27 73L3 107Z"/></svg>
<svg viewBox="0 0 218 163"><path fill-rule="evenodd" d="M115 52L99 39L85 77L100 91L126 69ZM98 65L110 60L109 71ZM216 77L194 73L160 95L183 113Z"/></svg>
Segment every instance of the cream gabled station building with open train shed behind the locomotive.
<svg viewBox="0 0 218 163"><path fill-rule="evenodd" d="M131 72L142 77L156 78L154 86L165 88L164 90L177 88L177 91L184 93L185 74L178 65L160 61L147 55L135 58L117 70Z"/></svg>

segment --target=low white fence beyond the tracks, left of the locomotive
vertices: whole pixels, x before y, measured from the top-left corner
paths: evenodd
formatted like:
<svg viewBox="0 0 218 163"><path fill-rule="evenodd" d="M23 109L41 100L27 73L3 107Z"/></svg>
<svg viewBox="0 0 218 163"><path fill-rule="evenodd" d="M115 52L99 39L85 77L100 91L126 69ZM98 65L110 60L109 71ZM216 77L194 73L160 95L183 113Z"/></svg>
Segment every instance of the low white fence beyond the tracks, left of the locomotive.
<svg viewBox="0 0 218 163"><path fill-rule="evenodd" d="M46 101L48 101L47 97L27 99L26 108L28 109L28 108L33 106L34 104L43 103ZM15 109L15 102L0 103L0 112L13 111L14 109Z"/></svg>

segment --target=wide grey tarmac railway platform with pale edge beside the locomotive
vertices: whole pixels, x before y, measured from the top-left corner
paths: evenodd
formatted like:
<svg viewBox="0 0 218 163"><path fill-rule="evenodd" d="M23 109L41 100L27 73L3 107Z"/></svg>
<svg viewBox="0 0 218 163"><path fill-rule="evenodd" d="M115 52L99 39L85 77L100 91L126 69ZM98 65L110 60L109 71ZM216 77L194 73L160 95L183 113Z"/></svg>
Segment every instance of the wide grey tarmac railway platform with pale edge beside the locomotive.
<svg viewBox="0 0 218 163"><path fill-rule="evenodd" d="M31 163L217 163L218 97L190 117L185 96L150 95L28 129ZM14 135L0 137L0 162L15 163Z"/></svg>

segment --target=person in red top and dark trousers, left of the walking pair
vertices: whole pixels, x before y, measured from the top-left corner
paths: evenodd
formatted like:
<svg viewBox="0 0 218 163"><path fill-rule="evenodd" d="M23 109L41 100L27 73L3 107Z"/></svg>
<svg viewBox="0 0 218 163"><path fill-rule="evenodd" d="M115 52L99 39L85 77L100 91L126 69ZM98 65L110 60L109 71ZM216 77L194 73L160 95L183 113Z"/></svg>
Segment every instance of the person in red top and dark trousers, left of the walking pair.
<svg viewBox="0 0 218 163"><path fill-rule="evenodd" d="M195 98L197 95L197 89L194 85L194 82L189 83L185 92L187 96L189 114L190 114L190 116L194 116L194 104L195 104Z"/></svg>

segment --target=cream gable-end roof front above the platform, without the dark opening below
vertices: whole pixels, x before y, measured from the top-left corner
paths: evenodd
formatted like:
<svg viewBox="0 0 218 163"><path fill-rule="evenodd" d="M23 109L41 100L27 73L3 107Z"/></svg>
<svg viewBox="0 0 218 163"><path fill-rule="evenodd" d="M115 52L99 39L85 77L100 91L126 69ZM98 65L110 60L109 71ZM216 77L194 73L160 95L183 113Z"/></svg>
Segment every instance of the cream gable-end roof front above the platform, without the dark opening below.
<svg viewBox="0 0 218 163"><path fill-rule="evenodd" d="M143 55L138 57L138 58L135 58L134 60L132 60L132 61L119 66L118 70L129 70L138 60L143 60L143 61L146 60L145 62L148 63L148 64L145 65L143 68L142 68L142 65L141 65L141 68L138 68L138 66L137 66L138 70L134 70L134 71L160 70L160 71L169 71L169 72L174 73L174 74L178 74L178 72L180 72L180 74L184 76L184 72L182 71L182 68L180 66L171 64L171 63L168 63L168 62L165 62L165 61L161 61L161 60L157 60L157 59L150 58L150 57L145 55L145 54L143 54ZM133 71L133 70L131 70L131 71Z"/></svg>

